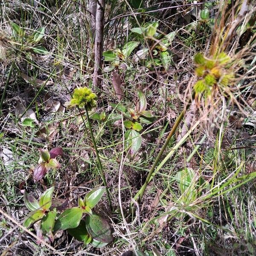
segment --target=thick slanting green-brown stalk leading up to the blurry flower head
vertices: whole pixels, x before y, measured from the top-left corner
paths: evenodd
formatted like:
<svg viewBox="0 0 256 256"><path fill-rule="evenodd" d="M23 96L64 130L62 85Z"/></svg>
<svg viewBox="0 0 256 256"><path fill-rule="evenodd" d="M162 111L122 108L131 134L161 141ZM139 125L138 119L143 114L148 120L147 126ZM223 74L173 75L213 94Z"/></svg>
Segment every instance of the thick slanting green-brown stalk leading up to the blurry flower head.
<svg viewBox="0 0 256 256"><path fill-rule="evenodd" d="M161 150L160 150L160 152L158 153L156 159L154 160L153 165L151 166L151 169L149 170L148 177L146 178L145 183L144 183L143 186L141 187L140 192L134 197L134 200L137 200L137 198L138 198L139 196L140 196L140 201L142 200L143 195L144 195L144 192L145 192L145 189L146 189L146 187L147 187L147 185L148 185L148 183L149 183L149 181L150 181L150 178L151 178L151 176L152 176L152 174L153 174L153 172L154 172L154 169L155 169L156 166L157 166L158 161L160 160L160 157L163 155L163 152L165 151L165 149L166 149L167 145L169 144L169 142L170 142L170 140L171 140L173 134L175 133L175 131L176 131L178 125L179 125L180 122L182 121L183 116L184 116L186 110L189 108L190 103L192 102L192 100L193 100L194 98L195 98L195 93L192 94L192 98L189 99L189 102L188 102L188 104L186 105L186 108L183 109L183 111L180 113L180 116L177 118L175 124L173 125L172 130L170 131L170 133L169 133L169 135L168 135L168 137L167 137L167 139L166 139L166 142L163 144L163 147L161 148Z"/></svg>

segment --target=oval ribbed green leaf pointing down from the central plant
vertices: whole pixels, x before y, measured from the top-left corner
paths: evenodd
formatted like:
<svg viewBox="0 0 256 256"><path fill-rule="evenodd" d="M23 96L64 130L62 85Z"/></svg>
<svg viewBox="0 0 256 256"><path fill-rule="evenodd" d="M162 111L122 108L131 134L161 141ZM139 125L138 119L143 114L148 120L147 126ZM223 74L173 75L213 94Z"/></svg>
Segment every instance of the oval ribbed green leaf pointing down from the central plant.
<svg viewBox="0 0 256 256"><path fill-rule="evenodd" d="M135 130L127 130L125 132L125 147L128 151L128 156L134 158L137 151L140 149L141 145L141 136Z"/></svg>

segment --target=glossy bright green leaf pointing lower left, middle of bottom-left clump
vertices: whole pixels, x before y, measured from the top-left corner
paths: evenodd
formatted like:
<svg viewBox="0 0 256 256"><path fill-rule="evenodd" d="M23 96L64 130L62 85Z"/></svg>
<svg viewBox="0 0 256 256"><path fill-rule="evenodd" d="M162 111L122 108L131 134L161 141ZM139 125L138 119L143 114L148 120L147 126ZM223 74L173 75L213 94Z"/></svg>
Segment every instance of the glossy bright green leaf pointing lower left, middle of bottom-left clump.
<svg viewBox="0 0 256 256"><path fill-rule="evenodd" d="M55 221L54 232L77 227L81 221L82 214L83 210L80 207L66 209Z"/></svg>

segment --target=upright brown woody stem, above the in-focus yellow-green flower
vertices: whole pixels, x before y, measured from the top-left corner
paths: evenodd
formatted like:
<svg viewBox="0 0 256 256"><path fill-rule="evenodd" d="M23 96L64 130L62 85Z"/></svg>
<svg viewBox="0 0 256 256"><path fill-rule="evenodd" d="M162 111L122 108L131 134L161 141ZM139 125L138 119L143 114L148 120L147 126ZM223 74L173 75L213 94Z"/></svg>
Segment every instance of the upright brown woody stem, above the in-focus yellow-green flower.
<svg viewBox="0 0 256 256"><path fill-rule="evenodd" d="M97 0L96 28L95 28L95 48L94 48L94 73L93 86L100 88L102 75L102 51L103 51L103 31L104 31L105 0Z"/></svg>

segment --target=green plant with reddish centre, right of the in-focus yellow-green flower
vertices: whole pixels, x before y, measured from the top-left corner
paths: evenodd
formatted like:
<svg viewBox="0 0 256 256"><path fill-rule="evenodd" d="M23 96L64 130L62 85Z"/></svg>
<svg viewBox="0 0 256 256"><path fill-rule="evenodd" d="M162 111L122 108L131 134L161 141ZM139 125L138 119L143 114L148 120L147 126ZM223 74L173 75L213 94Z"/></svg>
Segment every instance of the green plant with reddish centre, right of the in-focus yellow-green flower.
<svg viewBox="0 0 256 256"><path fill-rule="evenodd" d="M125 149L128 152L128 157L134 158L141 146L140 131L143 129L142 124L151 124L154 121L154 115L151 111L146 110L147 99L142 91L138 91L138 102L136 107L126 108L122 104L109 102L113 108L123 114L125 117ZM121 119L121 117L119 117Z"/></svg>

